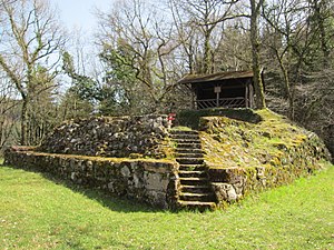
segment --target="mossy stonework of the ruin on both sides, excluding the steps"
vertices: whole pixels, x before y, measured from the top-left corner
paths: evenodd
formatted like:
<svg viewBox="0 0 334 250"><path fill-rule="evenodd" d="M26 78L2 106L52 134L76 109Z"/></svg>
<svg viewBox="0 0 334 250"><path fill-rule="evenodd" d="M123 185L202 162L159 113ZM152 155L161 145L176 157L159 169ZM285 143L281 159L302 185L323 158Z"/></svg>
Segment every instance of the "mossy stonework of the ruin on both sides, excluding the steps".
<svg viewBox="0 0 334 250"><path fill-rule="evenodd" d="M220 207L249 192L289 183L330 159L314 133L265 114L269 119L250 116L254 122L200 118L208 179ZM168 209L177 203L179 187L178 163L158 160L173 151L167 138L166 116L91 118L63 123L41 147L12 147L4 159L8 164Z"/></svg>

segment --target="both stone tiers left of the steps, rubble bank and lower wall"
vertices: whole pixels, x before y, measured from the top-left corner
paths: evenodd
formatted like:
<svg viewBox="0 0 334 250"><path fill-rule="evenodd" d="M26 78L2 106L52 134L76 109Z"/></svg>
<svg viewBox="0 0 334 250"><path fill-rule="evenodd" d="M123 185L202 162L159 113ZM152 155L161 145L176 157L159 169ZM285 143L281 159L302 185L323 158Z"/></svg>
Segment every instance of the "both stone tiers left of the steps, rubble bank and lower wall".
<svg viewBox="0 0 334 250"><path fill-rule="evenodd" d="M6 163L170 208L177 163L166 160L167 116L70 120L39 147L12 147Z"/></svg>

